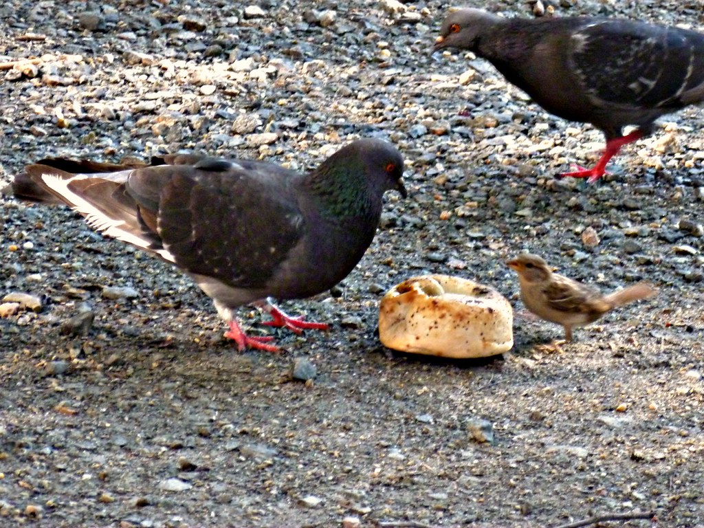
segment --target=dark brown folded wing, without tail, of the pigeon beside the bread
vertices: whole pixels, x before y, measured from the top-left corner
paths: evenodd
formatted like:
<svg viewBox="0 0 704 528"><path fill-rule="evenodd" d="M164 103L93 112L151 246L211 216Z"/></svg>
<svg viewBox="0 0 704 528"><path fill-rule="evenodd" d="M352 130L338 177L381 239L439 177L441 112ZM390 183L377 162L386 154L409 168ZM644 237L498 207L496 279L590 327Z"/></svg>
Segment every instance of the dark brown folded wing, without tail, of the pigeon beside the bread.
<svg viewBox="0 0 704 528"><path fill-rule="evenodd" d="M156 177L155 177L156 176ZM187 272L231 287L260 288L303 237L294 180L268 163L205 158L135 170L125 192L158 253Z"/></svg>

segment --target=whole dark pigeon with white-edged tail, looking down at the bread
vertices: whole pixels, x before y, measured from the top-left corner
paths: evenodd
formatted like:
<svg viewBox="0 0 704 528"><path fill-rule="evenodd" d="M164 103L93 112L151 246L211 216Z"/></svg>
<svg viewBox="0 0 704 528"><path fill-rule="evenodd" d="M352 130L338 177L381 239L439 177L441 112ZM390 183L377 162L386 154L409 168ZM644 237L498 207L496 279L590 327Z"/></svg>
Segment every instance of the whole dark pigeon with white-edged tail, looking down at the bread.
<svg viewBox="0 0 704 528"><path fill-rule="evenodd" d="M194 155L152 165L46 159L27 165L13 189L65 203L95 230L177 266L213 299L239 350L278 351L271 337L247 336L234 310L253 303L272 315L265 325L326 329L271 298L306 298L344 279L372 243L384 192L406 197L402 175L394 146L360 139L308 174Z"/></svg>

